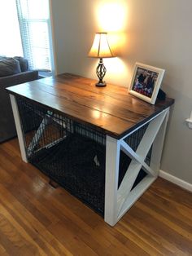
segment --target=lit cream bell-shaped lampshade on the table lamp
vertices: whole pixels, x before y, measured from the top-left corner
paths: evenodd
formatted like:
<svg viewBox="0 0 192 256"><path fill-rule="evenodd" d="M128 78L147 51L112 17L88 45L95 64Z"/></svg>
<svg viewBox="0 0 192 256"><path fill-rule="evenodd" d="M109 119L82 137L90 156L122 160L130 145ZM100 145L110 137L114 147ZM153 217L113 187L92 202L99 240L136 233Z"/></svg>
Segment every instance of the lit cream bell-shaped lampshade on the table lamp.
<svg viewBox="0 0 192 256"><path fill-rule="evenodd" d="M94 43L89 51L88 56L93 58L115 57L109 46L107 33L95 33Z"/></svg>

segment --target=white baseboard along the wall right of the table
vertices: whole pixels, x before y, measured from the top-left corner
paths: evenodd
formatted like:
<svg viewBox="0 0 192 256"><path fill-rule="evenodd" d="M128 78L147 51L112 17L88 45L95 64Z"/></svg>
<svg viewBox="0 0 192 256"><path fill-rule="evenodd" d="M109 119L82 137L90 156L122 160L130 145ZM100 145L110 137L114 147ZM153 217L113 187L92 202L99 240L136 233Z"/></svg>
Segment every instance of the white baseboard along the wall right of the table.
<svg viewBox="0 0 192 256"><path fill-rule="evenodd" d="M192 184L185 182L182 179L178 179L175 176L172 176L172 174L168 174L167 172L165 172L164 170L159 170L159 177L163 178L163 179L167 179L168 181L170 181L171 183L175 183L177 184L177 186L184 188L185 190L188 190L190 192L192 192Z"/></svg>

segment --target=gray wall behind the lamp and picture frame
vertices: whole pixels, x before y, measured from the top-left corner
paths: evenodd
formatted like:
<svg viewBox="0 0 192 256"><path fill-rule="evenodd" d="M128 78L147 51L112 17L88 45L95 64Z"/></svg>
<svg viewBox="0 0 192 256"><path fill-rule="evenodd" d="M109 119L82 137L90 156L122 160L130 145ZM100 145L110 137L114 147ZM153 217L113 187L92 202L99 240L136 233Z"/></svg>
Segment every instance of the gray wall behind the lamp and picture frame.
<svg viewBox="0 0 192 256"><path fill-rule="evenodd" d="M113 3L116 13L99 15ZM110 9L110 6L107 10ZM118 10L122 11L118 17ZM98 60L87 58L94 33L119 35L120 58L105 60L107 82L129 86L136 61L165 68L162 85L176 99L164 145L161 169L192 183L192 130L185 125L192 110L191 0L54 0L52 1L55 57L58 73L95 77ZM121 21L121 27L110 28ZM103 22L103 24L102 24ZM118 67L118 68L117 68ZM96 78L96 77L95 77Z"/></svg>

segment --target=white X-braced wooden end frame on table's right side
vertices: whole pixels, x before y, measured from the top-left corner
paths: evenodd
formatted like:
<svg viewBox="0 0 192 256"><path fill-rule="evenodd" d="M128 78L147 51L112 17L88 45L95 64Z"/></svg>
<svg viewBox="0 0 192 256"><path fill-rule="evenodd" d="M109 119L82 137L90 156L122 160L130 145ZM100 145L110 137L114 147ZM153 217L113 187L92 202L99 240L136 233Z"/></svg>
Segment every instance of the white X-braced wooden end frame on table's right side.
<svg viewBox="0 0 192 256"><path fill-rule="evenodd" d="M109 225L114 226L158 177L168 113L169 108L166 108L151 120L146 121L144 125L148 123L148 126L136 151L133 151L124 139L144 125L137 127L119 140L107 135L104 219ZM145 159L152 145L151 164L148 166ZM131 158L131 162L118 188L120 150ZM133 188L141 169L147 175Z"/></svg>

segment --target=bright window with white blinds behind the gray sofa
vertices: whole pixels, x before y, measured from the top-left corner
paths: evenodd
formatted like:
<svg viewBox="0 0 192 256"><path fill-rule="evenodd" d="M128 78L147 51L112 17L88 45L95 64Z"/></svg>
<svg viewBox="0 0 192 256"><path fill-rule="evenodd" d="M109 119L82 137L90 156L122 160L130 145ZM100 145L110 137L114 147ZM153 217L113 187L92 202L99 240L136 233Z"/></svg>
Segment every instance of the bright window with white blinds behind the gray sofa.
<svg viewBox="0 0 192 256"><path fill-rule="evenodd" d="M53 74L49 0L0 1L0 10L0 55L24 56L29 68Z"/></svg>

